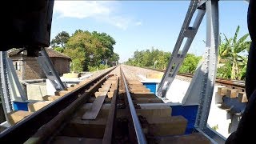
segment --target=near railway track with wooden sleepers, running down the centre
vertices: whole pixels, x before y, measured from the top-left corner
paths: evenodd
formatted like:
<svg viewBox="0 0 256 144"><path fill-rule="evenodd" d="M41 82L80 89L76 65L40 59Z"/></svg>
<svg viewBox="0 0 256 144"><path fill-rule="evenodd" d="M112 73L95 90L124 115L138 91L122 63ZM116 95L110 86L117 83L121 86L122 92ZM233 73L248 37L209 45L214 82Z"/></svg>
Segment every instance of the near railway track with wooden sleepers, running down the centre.
<svg viewBox="0 0 256 144"><path fill-rule="evenodd" d="M210 143L185 134L187 119L122 66L82 83L2 132L1 143Z"/></svg>

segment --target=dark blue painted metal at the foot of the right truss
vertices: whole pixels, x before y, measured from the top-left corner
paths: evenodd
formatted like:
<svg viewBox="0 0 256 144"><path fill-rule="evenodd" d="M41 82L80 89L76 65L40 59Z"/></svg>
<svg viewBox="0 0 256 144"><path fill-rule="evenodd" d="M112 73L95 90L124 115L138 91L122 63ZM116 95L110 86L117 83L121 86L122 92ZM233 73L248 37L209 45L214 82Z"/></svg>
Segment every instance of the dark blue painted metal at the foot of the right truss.
<svg viewBox="0 0 256 144"><path fill-rule="evenodd" d="M188 123L186 126L186 134L191 134L194 131L194 123L197 118L198 105L192 106L170 106L172 108L171 115L178 116L182 115L187 119Z"/></svg>

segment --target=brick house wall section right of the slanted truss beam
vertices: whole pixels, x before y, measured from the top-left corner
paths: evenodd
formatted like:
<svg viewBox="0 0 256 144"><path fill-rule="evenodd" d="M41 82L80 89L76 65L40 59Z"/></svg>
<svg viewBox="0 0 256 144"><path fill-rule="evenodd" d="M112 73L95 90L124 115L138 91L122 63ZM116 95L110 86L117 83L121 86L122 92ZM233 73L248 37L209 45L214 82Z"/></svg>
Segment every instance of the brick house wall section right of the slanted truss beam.
<svg viewBox="0 0 256 144"><path fill-rule="evenodd" d="M61 76L64 73L70 72L70 60L67 58L50 58L51 62L54 64L55 70Z"/></svg>

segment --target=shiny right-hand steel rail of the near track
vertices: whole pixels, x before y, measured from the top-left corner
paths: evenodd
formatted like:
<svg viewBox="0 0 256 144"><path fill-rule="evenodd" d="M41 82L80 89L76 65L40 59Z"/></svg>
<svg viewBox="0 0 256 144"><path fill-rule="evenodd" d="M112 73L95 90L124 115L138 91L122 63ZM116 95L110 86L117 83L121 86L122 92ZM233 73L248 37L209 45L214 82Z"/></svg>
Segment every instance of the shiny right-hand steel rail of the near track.
<svg viewBox="0 0 256 144"><path fill-rule="evenodd" d="M141 124L138 120L138 115L137 115L136 110L134 108L134 103L131 99L130 92L128 90L128 86L127 86L126 79L125 79L125 76L123 74L123 71L122 71L122 79L123 79L123 82L124 82L124 86L126 88L126 95L127 95L127 99L128 99L129 107L130 107L130 114L131 114L131 117L132 117L133 122L134 122L134 129L135 129L138 144L146 144L147 143L146 138L145 138L145 135L142 131L142 126L141 126Z"/></svg>

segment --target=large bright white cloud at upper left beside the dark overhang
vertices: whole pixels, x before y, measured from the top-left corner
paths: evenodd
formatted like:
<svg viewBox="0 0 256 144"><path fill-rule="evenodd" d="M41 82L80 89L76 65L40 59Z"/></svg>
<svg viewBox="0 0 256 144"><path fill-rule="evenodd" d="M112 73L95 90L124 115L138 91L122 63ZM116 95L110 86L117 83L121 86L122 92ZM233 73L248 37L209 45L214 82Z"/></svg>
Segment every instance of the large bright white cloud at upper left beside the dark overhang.
<svg viewBox="0 0 256 144"><path fill-rule="evenodd" d="M117 5L118 2L113 1L55 1L54 14L57 14L58 18L94 18L122 30L129 26L142 25L142 22L118 14L115 9Z"/></svg>

